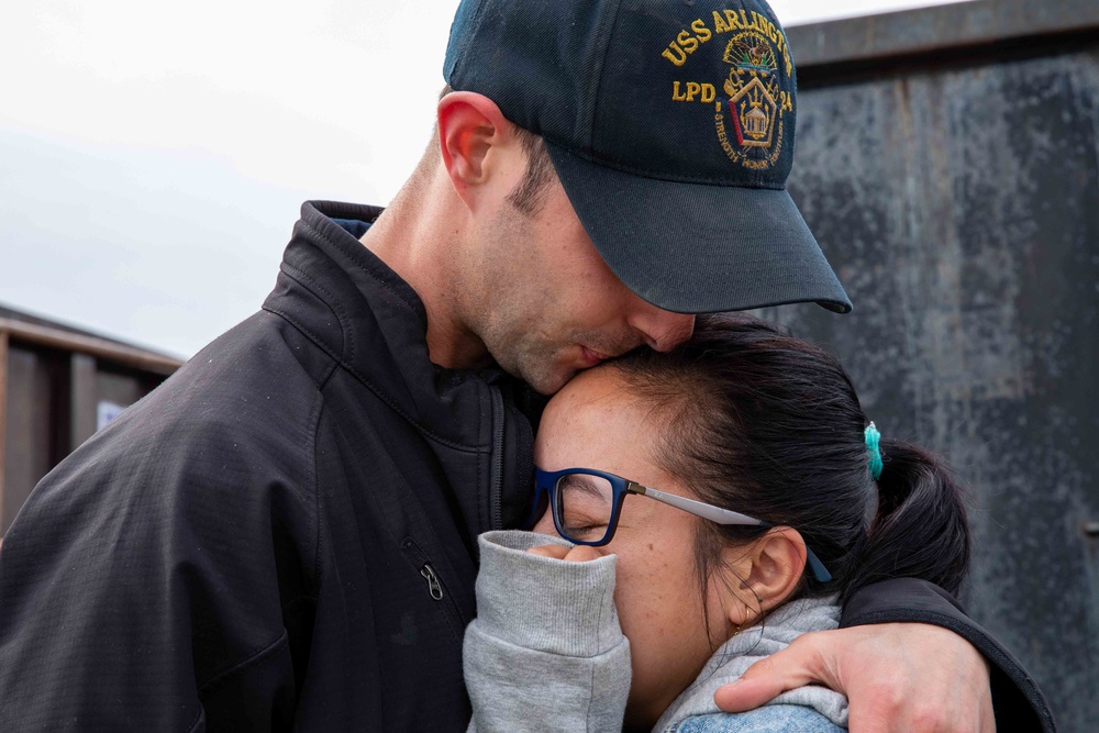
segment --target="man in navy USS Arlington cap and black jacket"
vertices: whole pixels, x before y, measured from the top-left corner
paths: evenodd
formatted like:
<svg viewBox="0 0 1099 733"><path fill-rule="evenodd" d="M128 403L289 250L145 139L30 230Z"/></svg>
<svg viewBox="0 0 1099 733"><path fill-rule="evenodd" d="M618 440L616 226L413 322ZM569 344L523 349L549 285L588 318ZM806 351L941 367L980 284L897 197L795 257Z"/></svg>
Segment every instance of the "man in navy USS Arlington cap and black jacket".
<svg viewBox="0 0 1099 733"><path fill-rule="evenodd" d="M529 498L525 385L695 312L850 310L784 188L793 67L762 2L466 2L445 76L391 207L304 204L263 310L35 490L0 553L0 730L460 730L476 535ZM914 587L854 604L981 643ZM856 730L992 730L961 637L819 638L723 704L821 679Z"/></svg>

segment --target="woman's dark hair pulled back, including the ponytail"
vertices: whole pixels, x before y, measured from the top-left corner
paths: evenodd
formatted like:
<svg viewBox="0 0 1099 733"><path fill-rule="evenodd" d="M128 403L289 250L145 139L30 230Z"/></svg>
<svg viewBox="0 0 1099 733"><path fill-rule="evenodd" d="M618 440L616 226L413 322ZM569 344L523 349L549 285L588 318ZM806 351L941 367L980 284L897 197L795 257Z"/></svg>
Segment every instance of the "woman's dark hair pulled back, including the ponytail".
<svg viewBox="0 0 1099 733"><path fill-rule="evenodd" d="M690 341L613 363L669 421L654 460L702 501L797 529L832 574L806 573L801 596L887 578L956 593L969 566L961 488L931 454L882 436L875 481L869 424L851 379L823 349L746 315L699 316ZM702 588L730 543L766 529L699 522Z"/></svg>

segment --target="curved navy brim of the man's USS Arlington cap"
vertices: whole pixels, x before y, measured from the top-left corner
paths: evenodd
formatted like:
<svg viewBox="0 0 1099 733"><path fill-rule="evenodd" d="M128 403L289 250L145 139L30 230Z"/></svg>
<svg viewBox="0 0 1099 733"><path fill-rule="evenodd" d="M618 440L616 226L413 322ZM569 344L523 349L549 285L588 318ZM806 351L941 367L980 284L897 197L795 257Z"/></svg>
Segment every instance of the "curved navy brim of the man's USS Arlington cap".
<svg viewBox="0 0 1099 733"><path fill-rule="evenodd" d="M644 300L679 313L851 301L785 189L645 178L546 141L603 262Z"/></svg>

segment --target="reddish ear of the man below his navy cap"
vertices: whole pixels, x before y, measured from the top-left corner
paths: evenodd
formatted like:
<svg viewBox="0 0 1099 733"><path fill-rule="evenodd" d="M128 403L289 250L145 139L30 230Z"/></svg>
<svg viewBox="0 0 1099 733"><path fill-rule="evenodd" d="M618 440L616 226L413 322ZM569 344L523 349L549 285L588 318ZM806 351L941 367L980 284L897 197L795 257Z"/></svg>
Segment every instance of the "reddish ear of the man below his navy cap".
<svg viewBox="0 0 1099 733"><path fill-rule="evenodd" d="M520 146L514 124L503 116L496 102L471 91L451 92L439 101L437 120L443 165L455 192L467 207L477 206L479 189L488 185L499 184L504 193L511 191L519 178L497 180L513 171L509 166L496 165L496 159Z"/></svg>

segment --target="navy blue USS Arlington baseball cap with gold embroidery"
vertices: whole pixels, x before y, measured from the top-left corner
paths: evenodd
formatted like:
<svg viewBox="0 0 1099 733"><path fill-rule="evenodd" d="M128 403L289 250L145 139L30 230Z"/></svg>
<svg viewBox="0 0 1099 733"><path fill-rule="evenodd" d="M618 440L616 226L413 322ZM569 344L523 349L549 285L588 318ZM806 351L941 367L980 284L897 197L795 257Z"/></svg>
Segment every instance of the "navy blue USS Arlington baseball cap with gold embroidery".
<svg viewBox="0 0 1099 733"><path fill-rule="evenodd" d="M443 75L542 135L611 270L665 310L851 301L786 190L797 79L758 0L463 0Z"/></svg>

